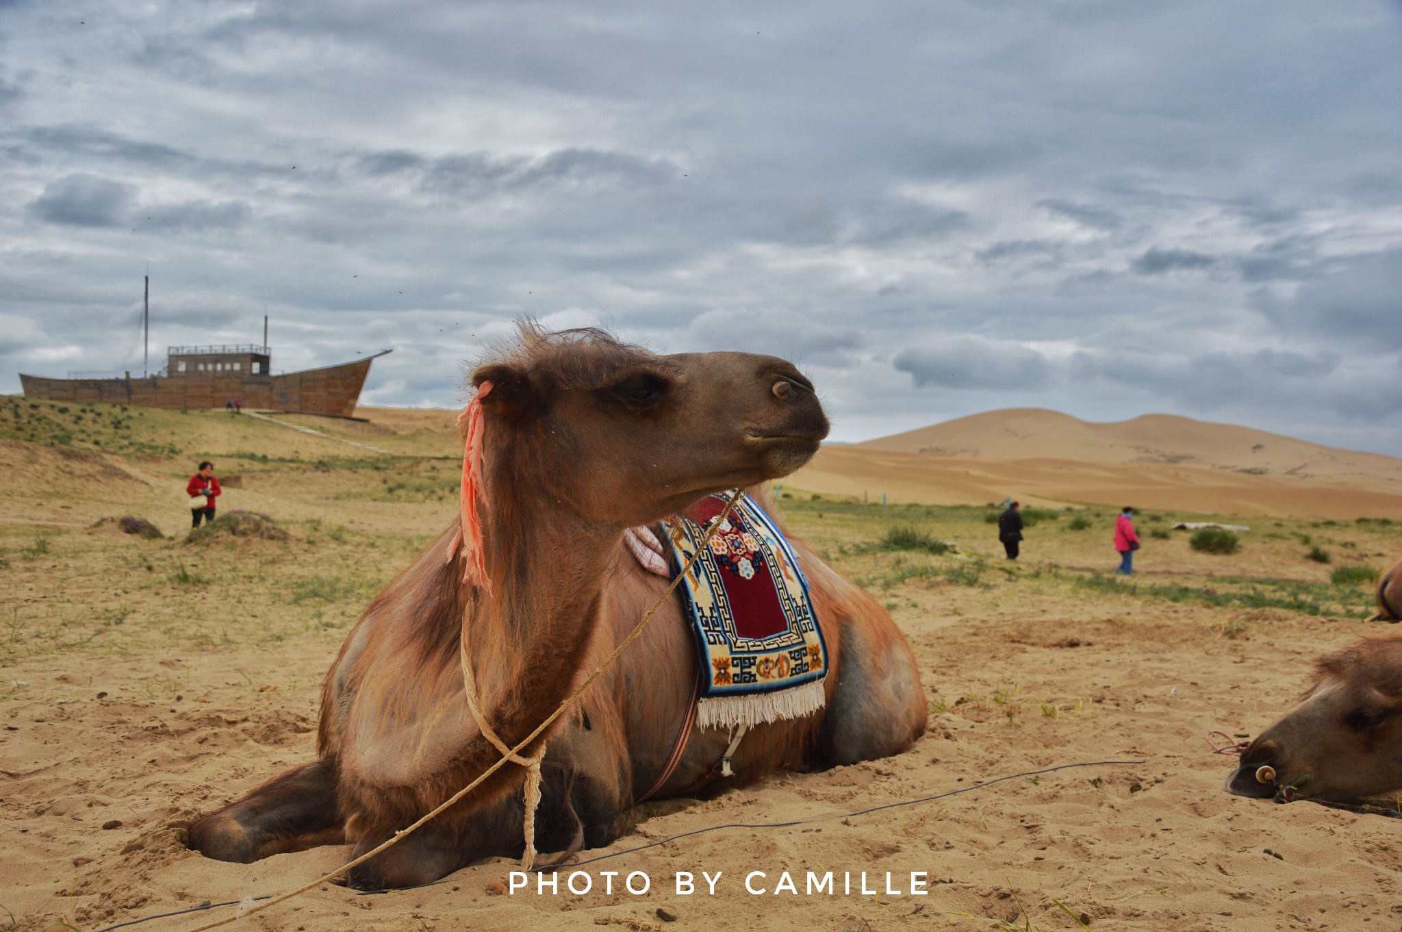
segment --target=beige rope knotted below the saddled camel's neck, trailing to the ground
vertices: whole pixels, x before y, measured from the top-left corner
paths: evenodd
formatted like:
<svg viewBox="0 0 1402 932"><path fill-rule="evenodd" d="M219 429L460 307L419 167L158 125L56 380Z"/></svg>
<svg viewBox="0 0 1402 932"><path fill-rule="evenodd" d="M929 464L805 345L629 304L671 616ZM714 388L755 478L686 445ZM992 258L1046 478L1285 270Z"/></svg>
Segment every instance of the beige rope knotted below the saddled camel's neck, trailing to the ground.
<svg viewBox="0 0 1402 932"><path fill-rule="evenodd" d="M467 796L470 792L472 792L474 789L477 789L482 783L482 781L485 781L488 776L491 776L492 774L495 774L496 771L499 771L509 761L510 762L526 761L527 774L526 774L526 785L523 786L523 790L527 793L527 800L526 800L526 803L527 803L526 804L526 820L527 820L527 824L533 825L534 824L536 809L534 809L534 806L531 804L531 802L529 799L529 795L530 795L530 790L531 790L531 786L530 786L530 779L531 779L531 776L530 776L531 775L531 758L523 758L523 757L520 757L522 748L527 747L531 741L534 741L537 737L540 737L540 734L545 729L548 729L555 722L555 719L558 719L561 715L565 713L565 709L568 709L571 705L573 705L575 701L578 701L579 697L583 695L585 690L587 690L589 687L592 687L594 684L594 680L597 680L600 676L603 676L604 670L607 670L608 667L613 666L614 660L617 660L618 656L622 655L622 652L628 649L628 645L631 645L634 640L638 639L638 635L641 635L642 629L648 626L648 622L652 621L652 617L655 614L658 614L658 610L662 608L662 604L665 601L667 601L667 598L672 597L673 591L676 591L677 586L681 583L681 580L686 577L687 572L691 569L691 565L695 563L695 561L701 556L701 551L711 545L711 538L715 537L716 530L719 530L721 521L723 521L726 517L729 517L730 509L735 507L735 503L740 499L740 495L743 495L742 491L736 489L735 493L730 496L730 500L725 503L725 509L719 514L715 516L714 521L711 521L711 527L707 528L705 537L701 538L701 545L697 547L697 551L687 559L686 563L681 565L681 569L677 573L677 577L672 580L672 584L667 586L667 590L665 593L662 593L662 596L658 598L658 601L655 601L652 604L652 608L649 608L648 612L642 617L642 621L639 621L634 626L634 629L628 632L628 636L624 638L618 643L617 647L614 647L614 652L611 655L608 655L608 657L606 657L604 662L600 663L594 669L593 673L589 674L587 680L585 680L582 684L579 684L579 688L575 690L569 695L569 698L566 698L564 702L561 702L559 706L554 712L551 712L545 718L544 722L541 722L540 725L537 725L536 730L533 730L530 734L527 734L526 737L523 737L520 740L520 743L516 744L516 747L506 748L502 753L502 757L499 757L495 764L492 764L485 771L482 771L482 774L478 775L477 779L474 779L471 783L468 783L463 789L460 789L456 793L453 793L451 796L449 796L446 800L443 800L443 803L439 804L437 809L435 809L433 811L422 816L416 823L414 823L408 828L401 828L401 830L395 831L383 844L380 844L379 847L376 847L376 848L365 852L363 855L360 855L355 861L349 861L349 862L341 865L339 868L336 868L335 870L332 870L331 873L322 875L322 876L317 877L315 880L313 880L311 883L306 883L306 884L297 887L296 890L293 890L290 893L285 893L280 897L273 897L268 903L262 903L259 905L255 905L251 910L245 911L243 915L231 915L231 917L229 917L226 919L219 919L217 922L207 922L205 925L200 925L200 926L196 926L196 928L191 929L189 932L205 932L206 929L217 929L222 925L229 925L230 922L237 922L238 919L241 919L244 917L250 917L250 915L252 915L255 912L262 912L264 910L266 910L269 907L275 907L279 903L286 903L287 900L292 900L293 897L301 896L307 890L311 890L313 887L320 886L320 884L322 884L322 883L325 883L325 882L328 882L328 880L331 880L331 879L334 879L334 877L345 873L346 870L350 870L352 868L365 863L366 861L369 861L370 858L376 856L381 851L386 851L387 848L390 848L393 845L397 845L400 841L402 841L408 835L411 835L415 831L418 831L419 828L422 828L430 818L433 818L435 816L440 814L444 809L449 809L450 806L453 806L454 803L457 803L460 799L463 799L464 796ZM460 645L460 647L461 647L461 645ZM465 690L468 690L468 683L471 683L471 669L465 664L465 662L464 662L464 666L463 666L463 673L465 676L465 680L464 680L464 684L463 684L464 685L464 691L465 691ZM470 697L468 698L468 708L472 709L472 715L477 718L477 722L481 726L481 725L485 723L485 719L482 718L481 712L477 708L477 690L475 690L475 684L472 684L472 688L468 692L468 697ZM489 732L491 732L489 727L484 729L482 734L488 736ZM506 747L505 741L502 741L501 737L498 737L495 732L491 732L491 736L488 737L488 740L492 741L492 744L496 746L496 748L499 751L502 751L502 748ZM544 748L541 750L541 754L544 754ZM534 758L534 774L536 774L536 788L534 789L536 789L536 796L537 796L537 800L538 800L538 797L540 797L540 755L537 755ZM526 842L527 844L527 849L526 849L527 854L534 854L534 844L533 842L534 842L534 838L527 837L527 842Z"/></svg>

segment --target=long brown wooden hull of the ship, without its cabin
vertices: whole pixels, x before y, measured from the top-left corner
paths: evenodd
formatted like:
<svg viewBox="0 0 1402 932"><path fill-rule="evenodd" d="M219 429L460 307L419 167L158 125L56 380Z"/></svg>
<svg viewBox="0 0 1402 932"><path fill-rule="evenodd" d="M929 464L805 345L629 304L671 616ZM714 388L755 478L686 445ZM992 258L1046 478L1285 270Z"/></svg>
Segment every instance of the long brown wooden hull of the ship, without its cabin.
<svg viewBox="0 0 1402 932"><path fill-rule="evenodd" d="M244 408L300 411L349 418L370 374L373 356L282 376L212 373L158 378L45 378L20 374L27 398L137 405L143 408L223 408L241 398Z"/></svg>

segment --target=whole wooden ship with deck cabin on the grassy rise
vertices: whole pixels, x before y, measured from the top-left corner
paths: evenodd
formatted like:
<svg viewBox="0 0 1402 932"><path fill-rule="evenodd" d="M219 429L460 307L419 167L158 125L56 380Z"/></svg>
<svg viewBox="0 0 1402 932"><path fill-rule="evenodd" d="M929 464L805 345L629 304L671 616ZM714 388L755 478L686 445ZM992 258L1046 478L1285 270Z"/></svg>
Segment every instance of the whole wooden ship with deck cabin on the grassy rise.
<svg viewBox="0 0 1402 932"><path fill-rule="evenodd" d="M151 376L48 378L20 373L25 398L140 405L144 408L244 408L350 418L370 363L390 350L353 363L273 374L268 346L170 346L165 369Z"/></svg>

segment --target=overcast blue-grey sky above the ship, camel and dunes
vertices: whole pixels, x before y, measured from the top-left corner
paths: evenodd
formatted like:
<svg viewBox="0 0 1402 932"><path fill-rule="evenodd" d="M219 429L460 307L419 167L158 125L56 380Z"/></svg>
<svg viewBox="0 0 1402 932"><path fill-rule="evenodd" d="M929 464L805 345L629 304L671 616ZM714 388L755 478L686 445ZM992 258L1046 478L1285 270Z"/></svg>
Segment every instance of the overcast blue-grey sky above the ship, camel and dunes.
<svg viewBox="0 0 1402 932"><path fill-rule="evenodd" d="M1004 406L1402 454L1402 6L0 0L0 391L509 321L799 360L834 437Z"/></svg>

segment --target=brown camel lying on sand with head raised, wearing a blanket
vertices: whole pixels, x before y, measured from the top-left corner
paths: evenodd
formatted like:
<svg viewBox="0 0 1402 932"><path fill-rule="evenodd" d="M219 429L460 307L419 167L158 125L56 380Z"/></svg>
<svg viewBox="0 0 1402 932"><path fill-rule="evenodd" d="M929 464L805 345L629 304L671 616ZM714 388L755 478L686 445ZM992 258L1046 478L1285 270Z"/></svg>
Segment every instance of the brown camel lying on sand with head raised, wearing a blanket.
<svg viewBox="0 0 1402 932"><path fill-rule="evenodd" d="M489 385L488 385L489 383ZM799 468L827 434L812 384L782 359L656 356L599 331L519 342L472 373L481 399L481 577L446 562L454 521L369 605L321 699L318 760L191 827L209 858L251 862L313 845L358 856L499 758L464 699L458 646L486 720L515 746L585 681L665 591L622 544L702 496ZM485 391L489 388L491 391ZM910 646L890 615L799 541L829 646L826 706L760 725L715 779L728 733L697 730L655 797L743 785L778 768L887 757L925 729ZM596 848L655 786L688 715L697 657L680 594L582 697L522 751L545 744L534 845ZM503 767L461 803L349 872L355 887L436 880L524 849L523 768Z"/></svg>

